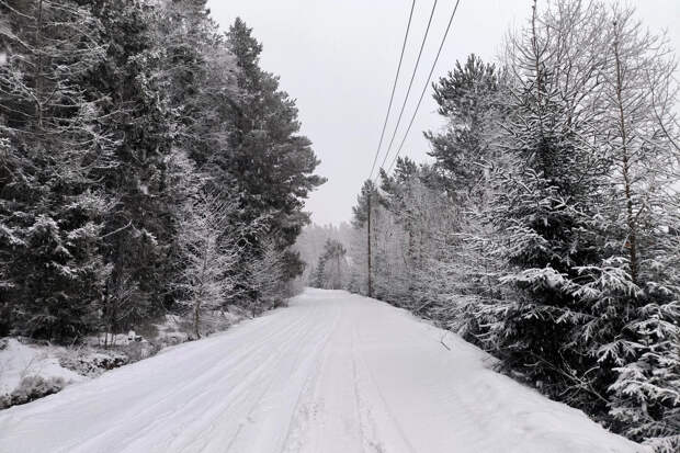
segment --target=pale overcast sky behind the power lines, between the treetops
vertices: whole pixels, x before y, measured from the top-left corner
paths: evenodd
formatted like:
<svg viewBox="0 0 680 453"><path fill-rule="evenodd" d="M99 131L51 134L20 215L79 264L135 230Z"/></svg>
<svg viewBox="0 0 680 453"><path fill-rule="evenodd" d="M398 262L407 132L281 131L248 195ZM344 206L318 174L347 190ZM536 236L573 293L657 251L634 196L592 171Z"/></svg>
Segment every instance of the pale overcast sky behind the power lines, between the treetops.
<svg viewBox="0 0 680 453"><path fill-rule="evenodd" d="M434 0L416 1L416 12L397 86L400 107ZM434 60L455 1L440 0L416 81L404 114L404 131ZM531 0L461 0L433 80L471 53L491 60L510 27L521 25ZM541 5L542 1L539 1ZM680 0L633 0L638 16L666 30L680 48ZM226 30L240 16L263 44L261 66L281 76L281 87L297 99L302 132L321 160L328 182L307 201L317 224L349 220L371 163L389 101L410 0L211 0L213 16ZM428 159L422 131L441 127L431 89L413 123L403 155ZM392 136L392 115L386 139ZM403 132L398 133L398 143ZM382 159L381 159L382 160ZM389 159L392 160L392 159ZM378 162L379 163L379 162Z"/></svg>

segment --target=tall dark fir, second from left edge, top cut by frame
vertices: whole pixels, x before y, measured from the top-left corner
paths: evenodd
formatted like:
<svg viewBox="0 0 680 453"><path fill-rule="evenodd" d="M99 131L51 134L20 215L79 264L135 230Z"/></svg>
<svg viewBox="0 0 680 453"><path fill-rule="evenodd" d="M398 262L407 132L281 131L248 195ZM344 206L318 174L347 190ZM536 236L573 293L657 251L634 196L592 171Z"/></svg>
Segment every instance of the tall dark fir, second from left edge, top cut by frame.
<svg viewBox="0 0 680 453"><path fill-rule="evenodd" d="M171 180L179 126L163 77L162 11L134 0L95 0L88 8L107 43L91 83L109 93L103 109L116 138L116 166L98 173L114 200L102 231L104 259L113 267L102 315L104 328L126 330L173 302L172 253L184 199Z"/></svg>

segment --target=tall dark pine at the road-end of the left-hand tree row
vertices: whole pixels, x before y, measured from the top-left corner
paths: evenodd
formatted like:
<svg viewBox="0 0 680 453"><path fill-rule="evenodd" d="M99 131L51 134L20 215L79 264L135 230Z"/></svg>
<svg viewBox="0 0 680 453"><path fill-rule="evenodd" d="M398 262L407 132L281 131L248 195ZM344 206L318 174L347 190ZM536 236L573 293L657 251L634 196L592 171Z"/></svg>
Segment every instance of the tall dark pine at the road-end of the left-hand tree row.
<svg viewBox="0 0 680 453"><path fill-rule="evenodd" d="M319 161L311 143L299 135L294 100L279 89L275 76L260 69L262 46L251 29L237 19L227 44L236 58L240 89L240 99L231 106L228 165L241 194L242 220L269 215L268 230L283 253L284 278L290 280L303 270L299 258L287 249L309 222L303 200L324 183L313 173Z"/></svg>

